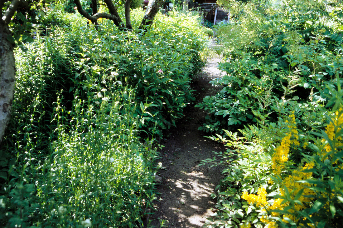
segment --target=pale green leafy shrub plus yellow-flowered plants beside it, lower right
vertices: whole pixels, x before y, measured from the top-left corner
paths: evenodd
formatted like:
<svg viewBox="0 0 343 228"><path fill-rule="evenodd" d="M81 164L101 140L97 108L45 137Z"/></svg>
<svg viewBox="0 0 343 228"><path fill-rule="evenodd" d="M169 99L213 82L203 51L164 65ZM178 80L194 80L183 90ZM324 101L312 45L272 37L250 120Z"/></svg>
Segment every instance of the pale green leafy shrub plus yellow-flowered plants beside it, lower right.
<svg viewBox="0 0 343 228"><path fill-rule="evenodd" d="M338 98L335 107L340 107L342 94L334 94ZM318 111L326 112L323 107ZM214 195L218 197L216 218L207 221L208 227L339 227L342 110L326 116L325 130L317 129L315 134L301 132L291 113L284 121L280 119L279 129L268 125L267 129L241 130L241 137L227 130L228 138L209 137L235 152L219 153L220 162L215 158L203 161L228 166ZM297 161L293 158L298 151L301 158Z"/></svg>

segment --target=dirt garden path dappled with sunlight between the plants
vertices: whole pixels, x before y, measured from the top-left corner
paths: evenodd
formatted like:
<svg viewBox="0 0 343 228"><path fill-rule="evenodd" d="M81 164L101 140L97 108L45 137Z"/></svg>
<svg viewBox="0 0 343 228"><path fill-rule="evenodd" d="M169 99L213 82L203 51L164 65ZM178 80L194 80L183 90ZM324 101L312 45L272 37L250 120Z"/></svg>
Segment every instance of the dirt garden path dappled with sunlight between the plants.
<svg viewBox="0 0 343 228"><path fill-rule="evenodd" d="M216 68L218 61L219 58L208 59L208 64L193 83L197 100L190 106L185 118L162 140L165 147L160 153L161 159L157 160L162 162L163 167L157 173L162 177L162 184L157 186L161 195L157 195L154 201L157 211L150 216L151 227L159 228L160 220L166 221L164 227L201 227L206 218L213 214L215 200L211 198L211 193L223 177L222 167L209 169L208 166L198 167L198 164L203 159L212 158L212 151L224 151L226 148L204 138L206 134L198 130L204 123L206 112L194 108L194 105L218 90L209 84L220 75Z"/></svg>

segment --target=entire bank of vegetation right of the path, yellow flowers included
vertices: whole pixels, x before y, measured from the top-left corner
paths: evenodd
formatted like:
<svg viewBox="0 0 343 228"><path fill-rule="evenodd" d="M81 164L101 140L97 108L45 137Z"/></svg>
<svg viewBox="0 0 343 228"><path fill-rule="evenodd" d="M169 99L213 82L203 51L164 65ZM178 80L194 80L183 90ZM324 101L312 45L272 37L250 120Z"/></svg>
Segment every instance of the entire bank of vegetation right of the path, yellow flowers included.
<svg viewBox="0 0 343 228"><path fill-rule="evenodd" d="M227 166L208 227L339 227L341 3L230 3L223 89L198 105L211 113L200 129L230 147L204 161Z"/></svg>

